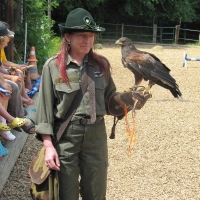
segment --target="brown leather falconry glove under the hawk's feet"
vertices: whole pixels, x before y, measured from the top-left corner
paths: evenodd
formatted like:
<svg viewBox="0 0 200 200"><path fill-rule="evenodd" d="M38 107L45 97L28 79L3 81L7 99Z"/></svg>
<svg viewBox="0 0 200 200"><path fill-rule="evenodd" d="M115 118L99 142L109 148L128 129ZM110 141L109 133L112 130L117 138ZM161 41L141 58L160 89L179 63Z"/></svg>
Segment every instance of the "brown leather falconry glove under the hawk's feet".
<svg viewBox="0 0 200 200"><path fill-rule="evenodd" d="M116 92L111 96L108 102L108 109L111 115L122 119L124 117L125 106L128 111L132 109L139 110L151 97L152 95L145 91L144 87L128 92Z"/></svg>

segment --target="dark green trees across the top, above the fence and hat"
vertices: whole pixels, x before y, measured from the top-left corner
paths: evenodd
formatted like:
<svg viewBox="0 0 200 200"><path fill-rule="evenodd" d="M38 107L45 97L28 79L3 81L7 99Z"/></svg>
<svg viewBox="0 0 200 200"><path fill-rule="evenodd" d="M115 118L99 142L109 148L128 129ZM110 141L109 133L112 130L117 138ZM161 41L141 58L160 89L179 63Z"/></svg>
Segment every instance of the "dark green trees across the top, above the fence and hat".
<svg viewBox="0 0 200 200"><path fill-rule="evenodd" d="M55 21L64 22L74 8L83 7L104 23L179 24L200 18L200 0L58 0L53 11Z"/></svg>

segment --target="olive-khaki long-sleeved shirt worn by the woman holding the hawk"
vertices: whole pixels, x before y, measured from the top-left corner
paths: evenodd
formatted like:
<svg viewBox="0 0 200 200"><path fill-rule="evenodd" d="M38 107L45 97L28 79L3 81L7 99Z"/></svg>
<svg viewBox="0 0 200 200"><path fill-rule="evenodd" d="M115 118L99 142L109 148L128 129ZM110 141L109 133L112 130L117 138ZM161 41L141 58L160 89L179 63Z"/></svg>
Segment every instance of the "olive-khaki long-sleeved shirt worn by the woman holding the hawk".
<svg viewBox="0 0 200 200"><path fill-rule="evenodd" d="M104 60L104 62L106 62ZM57 64L57 57L47 60L43 67L42 79L39 91L39 99L36 113L37 134L48 134L54 136L53 126L55 119L63 120L74 100L77 91L80 89L80 82L88 64L86 56L83 65L74 63L68 56L67 75L70 86L60 78L60 70ZM95 67L95 96L96 114L104 116L107 113L110 96L116 91L112 77L105 80L104 73L100 72L98 66ZM108 63L107 63L107 67ZM89 93L86 90L82 101L77 108L72 120L78 120L82 116L90 116Z"/></svg>

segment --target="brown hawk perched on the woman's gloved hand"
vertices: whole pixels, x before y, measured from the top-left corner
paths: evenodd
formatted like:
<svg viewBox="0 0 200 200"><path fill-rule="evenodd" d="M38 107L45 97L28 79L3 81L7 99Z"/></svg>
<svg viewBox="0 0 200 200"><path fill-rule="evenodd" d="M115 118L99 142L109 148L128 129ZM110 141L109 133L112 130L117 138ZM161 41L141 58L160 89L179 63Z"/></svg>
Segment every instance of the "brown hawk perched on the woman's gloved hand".
<svg viewBox="0 0 200 200"><path fill-rule="evenodd" d="M121 45L122 63L135 76L135 87L142 80L149 81L146 90L150 92L157 84L168 89L176 99L183 99L176 80L170 75L170 69L155 55L136 49L133 42L126 37L118 39L115 44Z"/></svg>

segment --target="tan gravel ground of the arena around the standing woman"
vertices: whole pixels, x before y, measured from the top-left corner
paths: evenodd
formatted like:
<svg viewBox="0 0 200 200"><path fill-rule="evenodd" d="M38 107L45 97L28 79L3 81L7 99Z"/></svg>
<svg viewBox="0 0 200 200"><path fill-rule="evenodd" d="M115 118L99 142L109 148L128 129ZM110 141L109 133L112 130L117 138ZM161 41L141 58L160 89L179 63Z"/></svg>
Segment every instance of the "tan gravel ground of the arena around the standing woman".
<svg viewBox="0 0 200 200"><path fill-rule="evenodd" d="M159 57L171 69L171 75L186 101L177 102L171 93L159 86L153 97L136 112L137 141L131 144L125 120L117 124L116 139L108 138L109 168L107 200L199 200L200 199L200 63L188 61L182 67L183 53L199 57L199 47L136 45ZM118 91L133 85L133 75L121 64L120 47L104 45L97 50L112 65ZM142 85L147 85L143 82ZM108 137L113 118L106 116ZM129 113L130 126L131 114ZM3 189L0 200L29 200L30 160L41 143L29 136Z"/></svg>

